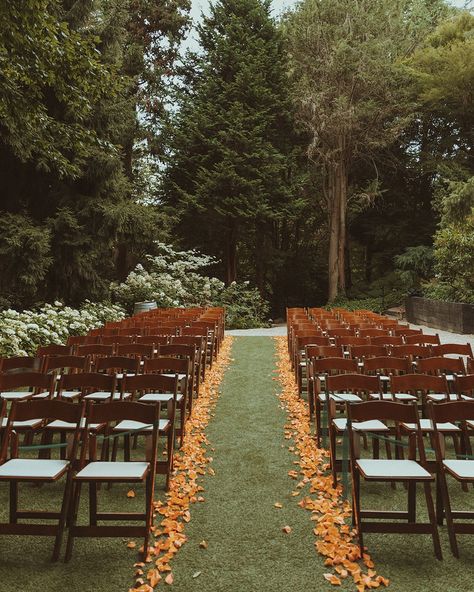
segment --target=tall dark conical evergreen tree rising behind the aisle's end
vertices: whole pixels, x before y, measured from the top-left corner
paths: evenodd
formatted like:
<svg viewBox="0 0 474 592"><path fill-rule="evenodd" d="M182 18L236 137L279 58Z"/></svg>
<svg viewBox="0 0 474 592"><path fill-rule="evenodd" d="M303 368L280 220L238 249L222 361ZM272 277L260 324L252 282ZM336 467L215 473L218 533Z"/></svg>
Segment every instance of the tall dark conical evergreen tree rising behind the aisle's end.
<svg viewBox="0 0 474 592"><path fill-rule="evenodd" d="M290 207L280 34L266 0L218 0L198 32L202 51L188 56L162 199L179 215L182 242L222 259L227 283L245 255L263 289L266 241Z"/></svg>

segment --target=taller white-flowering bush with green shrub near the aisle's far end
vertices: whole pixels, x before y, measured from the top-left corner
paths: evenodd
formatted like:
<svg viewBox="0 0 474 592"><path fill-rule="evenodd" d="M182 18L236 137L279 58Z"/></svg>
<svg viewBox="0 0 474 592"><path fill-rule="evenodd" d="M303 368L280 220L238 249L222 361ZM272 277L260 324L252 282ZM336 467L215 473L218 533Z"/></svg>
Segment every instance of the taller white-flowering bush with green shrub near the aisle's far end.
<svg viewBox="0 0 474 592"><path fill-rule="evenodd" d="M158 255L147 255L121 284L112 284L114 300L130 313L135 302L156 301L158 307L225 306L229 328L268 323L268 303L248 282L226 286L206 270L218 263L198 251L176 251L156 243Z"/></svg>

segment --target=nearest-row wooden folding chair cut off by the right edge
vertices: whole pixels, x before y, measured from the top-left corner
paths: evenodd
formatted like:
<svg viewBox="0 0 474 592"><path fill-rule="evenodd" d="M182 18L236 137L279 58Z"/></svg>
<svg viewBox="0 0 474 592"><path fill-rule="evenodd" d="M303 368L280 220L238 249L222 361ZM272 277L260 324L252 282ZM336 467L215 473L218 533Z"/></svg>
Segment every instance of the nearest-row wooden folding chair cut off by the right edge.
<svg viewBox="0 0 474 592"><path fill-rule="evenodd" d="M458 522L457 519L473 520L474 512L452 509L447 477L455 479L464 486L469 483L474 484L474 458L471 446L465 441L463 450L470 452L470 454L458 453L456 458L448 459L443 433L439 430L439 425L445 422L459 423L464 438L467 440L469 437L468 423L472 425L474 422L474 401L452 401L437 404L430 402L428 404L428 414L432 421L432 440L438 463L436 504L438 524L443 524L443 518L446 518L451 551L455 557L459 557L456 535L474 534L474 523Z"/></svg>

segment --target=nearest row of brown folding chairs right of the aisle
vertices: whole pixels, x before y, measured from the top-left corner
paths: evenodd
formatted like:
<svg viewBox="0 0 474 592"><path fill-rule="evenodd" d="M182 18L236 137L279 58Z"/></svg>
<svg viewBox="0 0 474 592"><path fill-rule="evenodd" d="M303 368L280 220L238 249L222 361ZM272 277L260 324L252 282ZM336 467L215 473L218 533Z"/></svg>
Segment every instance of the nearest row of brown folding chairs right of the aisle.
<svg viewBox="0 0 474 592"><path fill-rule="evenodd" d="M424 428L418 418L415 404L406 405L394 402L365 402L347 404L347 432L350 444L350 467L352 474L352 498L354 522L359 534L359 544L363 549L363 535L366 532L400 532L431 534L436 556L441 559L441 548L437 524L442 525L446 518L451 550L459 557L457 534L473 534L474 513L454 510L447 478L453 478L463 485L474 483L474 458L469 442L474 425L474 401L455 401L448 403L430 402L428 405L429 427ZM364 425L372 431L372 424L378 422L387 428L389 422L396 427L396 441L403 434L409 437L408 459L366 459L361 456L360 436ZM454 448L456 457L448 459L445 436L448 429L458 433L463 441L461 452ZM435 451L435 461L427 461L423 434L429 431L430 441ZM387 428L384 432L392 433ZM390 439L390 438L389 438ZM418 460L417 452L418 450ZM468 451L470 454L466 454ZM361 480L408 483L407 512L363 510L361 508ZM431 483L436 479L436 510L432 500ZM423 483L428 510L428 522L416 521L416 484ZM467 490L465 488L465 490ZM374 522L373 519L390 519L391 522ZM463 519L463 522L458 522ZM402 522L399 522L402 521ZM405 522L406 521L406 522Z"/></svg>

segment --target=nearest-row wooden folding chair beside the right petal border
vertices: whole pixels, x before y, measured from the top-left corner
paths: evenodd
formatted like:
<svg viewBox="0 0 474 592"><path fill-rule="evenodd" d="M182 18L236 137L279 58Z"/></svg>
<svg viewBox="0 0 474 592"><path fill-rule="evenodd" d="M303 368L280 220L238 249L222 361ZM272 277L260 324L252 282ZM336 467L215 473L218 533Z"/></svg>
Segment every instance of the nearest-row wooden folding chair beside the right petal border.
<svg viewBox="0 0 474 592"><path fill-rule="evenodd" d="M361 458L361 433L354 429L354 423L374 420L381 421L386 425L390 423L390 425L395 424L397 426L401 422L405 422L407 424L413 423L419 427L416 403L366 401L347 404L347 428L352 474L352 511L359 538L360 554L362 556L364 553L363 536L366 532L431 534L435 555L438 559L442 559L431 494L431 483L434 481L434 477L425 468L426 455L422 432L420 429L416 429L410 433L408 459ZM398 432L397 440L400 440L400 432L398 429L396 431ZM420 462L416 461L417 448ZM369 482L408 482L407 510L363 510L361 508L361 478ZM416 521L416 485L418 483L423 483L429 517L428 522Z"/></svg>

